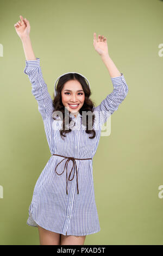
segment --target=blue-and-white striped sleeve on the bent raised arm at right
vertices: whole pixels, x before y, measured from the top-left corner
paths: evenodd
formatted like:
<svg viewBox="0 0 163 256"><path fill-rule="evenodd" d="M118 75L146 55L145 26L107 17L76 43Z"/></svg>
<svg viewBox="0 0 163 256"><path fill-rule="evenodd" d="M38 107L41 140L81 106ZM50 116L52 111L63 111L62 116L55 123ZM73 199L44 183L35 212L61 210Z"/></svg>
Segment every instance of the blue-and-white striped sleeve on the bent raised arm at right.
<svg viewBox="0 0 163 256"><path fill-rule="evenodd" d="M99 124L102 126L113 114L128 94L128 86L124 75L111 78L114 90L106 96L100 105L94 108Z"/></svg>

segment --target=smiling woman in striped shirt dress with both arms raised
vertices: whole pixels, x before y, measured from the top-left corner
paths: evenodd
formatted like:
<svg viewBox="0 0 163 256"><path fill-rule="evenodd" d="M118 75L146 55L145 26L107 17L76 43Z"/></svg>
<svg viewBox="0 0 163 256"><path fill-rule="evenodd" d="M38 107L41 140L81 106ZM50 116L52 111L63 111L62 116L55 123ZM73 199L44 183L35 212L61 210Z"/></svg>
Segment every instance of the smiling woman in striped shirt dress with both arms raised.
<svg viewBox="0 0 163 256"><path fill-rule="evenodd" d="M114 90L95 107L86 77L68 72L57 79L57 87L55 82L52 100L40 59L32 49L29 21L21 15L20 19L14 26L26 56L24 73L32 83L52 154L36 181L27 224L38 227L41 245L84 245L86 235L100 230L92 157L102 125L125 99L128 86L109 56L106 38L98 35L97 39L94 33L93 46L109 71ZM91 121L84 118L85 113Z"/></svg>

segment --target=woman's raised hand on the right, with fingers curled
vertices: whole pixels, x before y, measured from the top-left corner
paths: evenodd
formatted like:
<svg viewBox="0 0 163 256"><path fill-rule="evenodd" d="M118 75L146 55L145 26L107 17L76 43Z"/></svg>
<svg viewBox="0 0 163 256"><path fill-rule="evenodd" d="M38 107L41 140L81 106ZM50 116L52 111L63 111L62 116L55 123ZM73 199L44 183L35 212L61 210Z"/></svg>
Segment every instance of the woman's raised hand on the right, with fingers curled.
<svg viewBox="0 0 163 256"><path fill-rule="evenodd" d="M109 54L107 40L103 35L98 35L98 39L96 39L96 33L93 34L93 46L101 57Z"/></svg>

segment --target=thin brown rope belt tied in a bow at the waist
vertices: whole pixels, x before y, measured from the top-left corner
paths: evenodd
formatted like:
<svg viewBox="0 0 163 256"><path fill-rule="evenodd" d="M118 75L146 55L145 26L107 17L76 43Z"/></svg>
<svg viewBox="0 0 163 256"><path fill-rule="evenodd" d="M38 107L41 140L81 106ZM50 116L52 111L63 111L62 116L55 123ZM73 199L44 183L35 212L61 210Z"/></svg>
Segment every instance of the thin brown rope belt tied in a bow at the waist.
<svg viewBox="0 0 163 256"><path fill-rule="evenodd" d="M53 154L53 156L61 156L61 155L57 155L57 154ZM65 167L66 167L66 194L68 194L68 191L67 191L67 165L68 165L68 162L71 160L72 162L73 162L73 167L74 167L74 164L76 164L76 171L77 171L77 190L78 190L78 170L77 170L77 163L76 163L76 160L89 160L89 159L91 159L91 158L87 158L87 159L78 159L78 158L73 158L73 157L67 157L67 156L62 156L62 157L65 157L65 159L67 158L67 161L66 161L66 163L65 163ZM61 160L58 164L60 164L62 161L64 161L65 159L63 159L63 160ZM57 166L58 166L58 164L57 164ZM56 169L57 169L57 166L55 167L55 172L57 173L57 171L56 171ZM72 167L72 169L73 169L73 167ZM69 175L69 177L68 177L68 180L70 180L70 176L71 176L71 173L72 173L72 169L71 169L71 172L70 172L70 175ZM63 170L63 172L62 173L64 173L64 171L65 171L65 168L64 168L64 170ZM57 173L58 175L61 175L62 173ZM74 171L74 174L75 174L75 171ZM74 178L74 174L73 174L73 178ZM73 178L71 179L71 180L73 180ZM71 181L70 180L70 181ZM79 190L78 190L78 194L79 194Z"/></svg>

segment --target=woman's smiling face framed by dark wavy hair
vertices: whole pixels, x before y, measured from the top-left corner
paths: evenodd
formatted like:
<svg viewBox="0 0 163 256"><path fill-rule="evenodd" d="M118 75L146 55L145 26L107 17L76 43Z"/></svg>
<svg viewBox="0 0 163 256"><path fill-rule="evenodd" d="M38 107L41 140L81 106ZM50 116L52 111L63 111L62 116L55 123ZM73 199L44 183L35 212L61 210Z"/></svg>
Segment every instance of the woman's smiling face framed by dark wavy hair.
<svg viewBox="0 0 163 256"><path fill-rule="evenodd" d="M61 97L63 105L72 114L78 114L79 109L83 106L85 100L85 94L82 85L78 80L69 80L64 84L64 88L61 90ZM71 105L78 105L71 106Z"/></svg>

